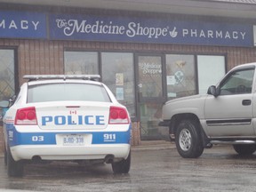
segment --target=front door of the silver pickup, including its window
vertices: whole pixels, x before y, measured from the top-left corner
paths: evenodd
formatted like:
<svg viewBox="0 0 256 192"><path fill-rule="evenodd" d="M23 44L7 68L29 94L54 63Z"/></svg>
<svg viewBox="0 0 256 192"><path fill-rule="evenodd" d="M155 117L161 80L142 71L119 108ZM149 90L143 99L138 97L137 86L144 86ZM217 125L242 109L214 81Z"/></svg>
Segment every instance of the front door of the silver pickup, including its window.
<svg viewBox="0 0 256 192"><path fill-rule="evenodd" d="M252 137L254 67L237 69L220 82L220 95L205 100L205 124L208 135L218 137Z"/></svg>

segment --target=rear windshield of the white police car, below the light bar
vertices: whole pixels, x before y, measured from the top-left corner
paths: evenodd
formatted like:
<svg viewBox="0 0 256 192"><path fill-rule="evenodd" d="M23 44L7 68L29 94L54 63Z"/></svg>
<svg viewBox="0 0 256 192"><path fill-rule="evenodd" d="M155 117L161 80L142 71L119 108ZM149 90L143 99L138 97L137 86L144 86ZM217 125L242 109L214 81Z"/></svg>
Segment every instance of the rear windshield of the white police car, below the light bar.
<svg viewBox="0 0 256 192"><path fill-rule="evenodd" d="M60 100L109 102L108 92L96 84L36 84L28 86L28 103Z"/></svg>

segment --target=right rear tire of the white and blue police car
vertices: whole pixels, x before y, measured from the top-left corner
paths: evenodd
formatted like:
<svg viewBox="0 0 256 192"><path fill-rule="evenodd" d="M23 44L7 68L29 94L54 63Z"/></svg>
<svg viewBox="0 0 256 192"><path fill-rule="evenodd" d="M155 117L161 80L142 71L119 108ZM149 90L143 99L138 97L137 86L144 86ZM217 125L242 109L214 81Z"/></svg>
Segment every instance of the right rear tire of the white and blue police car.
<svg viewBox="0 0 256 192"><path fill-rule="evenodd" d="M126 159L112 163L112 170L115 174L128 173L131 167L131 151Z"/></svg>

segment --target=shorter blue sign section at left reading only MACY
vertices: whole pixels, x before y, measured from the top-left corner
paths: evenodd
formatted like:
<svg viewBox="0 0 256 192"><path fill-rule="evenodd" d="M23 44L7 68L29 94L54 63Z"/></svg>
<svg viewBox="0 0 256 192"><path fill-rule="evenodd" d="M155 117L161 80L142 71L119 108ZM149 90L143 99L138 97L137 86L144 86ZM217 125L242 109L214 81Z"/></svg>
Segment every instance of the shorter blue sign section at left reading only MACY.
<svg viewBox="0 0 256 192"><path fill-rule="evenodd" d="M36 12L0 12L0 37L46 38L46 15Z"/></svg>

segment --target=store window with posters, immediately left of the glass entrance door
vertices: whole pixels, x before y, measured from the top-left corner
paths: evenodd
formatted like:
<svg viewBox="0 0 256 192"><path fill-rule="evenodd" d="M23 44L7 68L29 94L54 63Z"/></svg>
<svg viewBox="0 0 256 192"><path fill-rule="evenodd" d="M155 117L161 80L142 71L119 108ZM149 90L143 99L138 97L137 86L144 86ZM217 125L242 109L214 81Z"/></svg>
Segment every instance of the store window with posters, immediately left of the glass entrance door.
<svg viewBox="0 0 256 192"><path fill-rule="evenodd" d="M102 52L102 81L135 116L133 54L130 52Z"/></svg>

